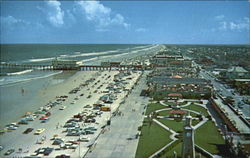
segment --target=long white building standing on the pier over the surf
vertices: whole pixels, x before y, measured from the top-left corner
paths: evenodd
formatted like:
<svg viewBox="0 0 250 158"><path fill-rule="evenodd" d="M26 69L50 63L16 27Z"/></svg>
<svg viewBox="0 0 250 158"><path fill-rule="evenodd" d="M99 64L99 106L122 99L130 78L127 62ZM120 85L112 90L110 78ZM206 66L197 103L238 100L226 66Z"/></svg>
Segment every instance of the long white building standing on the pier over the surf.
<svg viewBox="0 0 250 158"><path fill-rule="evenodd" d="M53 69L56 70L77 70L79 65L76 60L52 60Z"/></svg>

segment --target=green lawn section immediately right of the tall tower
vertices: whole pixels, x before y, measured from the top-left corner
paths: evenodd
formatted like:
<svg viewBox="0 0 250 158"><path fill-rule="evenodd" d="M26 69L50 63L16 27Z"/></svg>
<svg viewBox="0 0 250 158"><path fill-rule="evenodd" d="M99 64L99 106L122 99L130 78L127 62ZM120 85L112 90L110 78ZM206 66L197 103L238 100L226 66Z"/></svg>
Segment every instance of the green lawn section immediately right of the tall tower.
<svg viewBox="0 0 250 158"><path fill-rule="evenodd" d="M212 121L206 122L195 131L195 143L212 154L218 154L218 147L223 147L225 144Z"/></svg>

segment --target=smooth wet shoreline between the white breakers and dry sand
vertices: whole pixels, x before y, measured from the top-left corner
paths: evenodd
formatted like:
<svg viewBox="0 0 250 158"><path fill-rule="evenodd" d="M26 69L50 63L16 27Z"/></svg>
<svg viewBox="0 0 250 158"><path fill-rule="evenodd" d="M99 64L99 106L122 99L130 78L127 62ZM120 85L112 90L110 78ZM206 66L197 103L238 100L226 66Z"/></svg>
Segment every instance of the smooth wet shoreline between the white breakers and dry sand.
<svg viewBox="0 0 250 158"><path fill-rule="evenodd" d="M60 84L74 74L75 72L64 71L44 78L1 86L0 129L4 128L6 124L16 122L26 112L37 110L41 106L41 102L38 102L40 91ZM22 89L24 89L23 94Z"/></svg>

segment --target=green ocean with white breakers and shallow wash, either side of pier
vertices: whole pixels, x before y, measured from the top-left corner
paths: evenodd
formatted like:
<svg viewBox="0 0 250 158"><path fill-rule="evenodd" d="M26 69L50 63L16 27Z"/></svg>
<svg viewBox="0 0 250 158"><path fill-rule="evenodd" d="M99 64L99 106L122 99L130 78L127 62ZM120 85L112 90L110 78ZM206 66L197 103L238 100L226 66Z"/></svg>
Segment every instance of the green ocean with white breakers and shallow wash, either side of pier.
<svg viewBox="0 0 250 158"><path fill-rule="evenodd" d="M1 63L47 65L55 58L81 64L122 61L161 49L161 45L129 44L1 44ZM32 100L40 89L58 84L75 72L0 69L0 128L38 107ZM21 91L28 92L22 96Z"/></svg>

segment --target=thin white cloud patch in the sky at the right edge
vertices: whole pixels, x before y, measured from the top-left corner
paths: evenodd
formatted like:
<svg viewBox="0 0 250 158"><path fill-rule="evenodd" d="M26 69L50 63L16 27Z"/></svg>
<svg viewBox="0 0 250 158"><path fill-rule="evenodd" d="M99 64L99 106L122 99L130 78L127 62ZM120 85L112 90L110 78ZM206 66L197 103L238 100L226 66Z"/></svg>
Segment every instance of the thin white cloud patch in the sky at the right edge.
<svg viewBox="0 0 250 158"><path fill-rule="evenodd" d="M249 30L250 22L248 17L244 17L236 21L221 19L218 25L218 30L221 31L243 31Z"/></svg>

